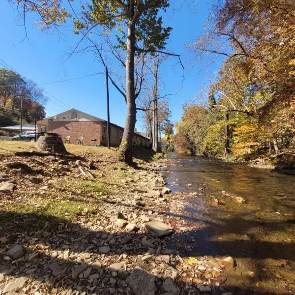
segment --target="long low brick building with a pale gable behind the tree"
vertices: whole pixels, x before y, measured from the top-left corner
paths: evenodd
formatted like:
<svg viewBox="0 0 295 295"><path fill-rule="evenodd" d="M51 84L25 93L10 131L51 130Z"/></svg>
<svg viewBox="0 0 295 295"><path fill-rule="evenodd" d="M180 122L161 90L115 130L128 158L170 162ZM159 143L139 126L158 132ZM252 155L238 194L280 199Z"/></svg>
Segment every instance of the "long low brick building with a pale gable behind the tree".
<svg viewBox="0 0 295 295"><path fill-rule="evenodd" d="M107 145L107 121L75 109L37 121L38 132L41 131L41 126L46 128L46 132L58 133L63 139L70 136L71 144L83 136L83 144L85 145L91 145L91 139L96 139L99 146ZM111 146L118 147L124 129L113 123L110 123L110 128ZM149 139L135 132L133 145L149 147Z"/></svg>

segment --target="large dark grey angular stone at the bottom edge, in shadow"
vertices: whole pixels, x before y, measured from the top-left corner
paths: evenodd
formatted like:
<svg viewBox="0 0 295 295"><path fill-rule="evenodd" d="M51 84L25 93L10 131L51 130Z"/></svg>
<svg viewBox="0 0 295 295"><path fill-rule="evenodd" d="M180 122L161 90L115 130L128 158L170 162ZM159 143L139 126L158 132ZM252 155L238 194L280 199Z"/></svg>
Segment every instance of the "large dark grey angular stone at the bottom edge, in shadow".
<svg viewBox="0 0 295 295"><path fill-rule="evenodd" d="M126 279L135 295L154 295L156 290L155 277L136 266Z"/></svg>

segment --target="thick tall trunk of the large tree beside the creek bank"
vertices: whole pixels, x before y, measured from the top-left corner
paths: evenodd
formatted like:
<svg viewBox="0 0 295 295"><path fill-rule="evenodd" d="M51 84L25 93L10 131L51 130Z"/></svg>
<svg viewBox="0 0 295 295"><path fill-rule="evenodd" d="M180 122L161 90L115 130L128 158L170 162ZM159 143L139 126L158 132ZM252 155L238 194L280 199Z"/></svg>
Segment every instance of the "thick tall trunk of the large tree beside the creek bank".
<svg viewBox="0 0 295 295"><path fill-rule="evenodd" d="M119 148L119 161L132 164L132 140L136 123L136 104L134 86L134 55L135 55L135 25L132 21L128 23L128 34L126 41L126 104L127 114L125 127Z"/></svg>

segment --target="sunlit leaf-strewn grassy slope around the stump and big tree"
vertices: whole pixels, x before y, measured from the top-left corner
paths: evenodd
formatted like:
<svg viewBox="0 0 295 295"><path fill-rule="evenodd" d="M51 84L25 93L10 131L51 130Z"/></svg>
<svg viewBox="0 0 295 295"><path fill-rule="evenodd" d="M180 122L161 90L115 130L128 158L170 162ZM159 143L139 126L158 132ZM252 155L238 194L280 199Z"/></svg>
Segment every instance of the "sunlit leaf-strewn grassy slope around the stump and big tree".
<svg viewBox="0 0 295 295"><path fill-rule="evenodd" d="M122 180L133 178L136 169L118 162L116 159L117 148L65 145L67 151L75 155L84 155L82 167L87 172L87 163L93 161L96 169L89 171L89 175L82 175L74 161L69 161L65 172L59 171L58 159L50 160L47 156L16 156L17 151L37 150L33 143L18 141L0 141L0 178L7 177L16 182L17 187L11 194L0 198L0 211L11 213L15 218L19 214L28 214L22 228L40 228L40 224L53 221L79 220L81 215L95 216L101 201L105 198L125 193ZM154 154L151 150L137 148L135 161L138 165L158 159L161 153ZM11 169L6 163L20 161L28 165L33 172L22 172ZM38 217L34 217L38 216ZM10 222L0 215L0 221L5 224ZM10 224L10 226L13 226ZM18 225L19 227L19 225Z"/></svg>

